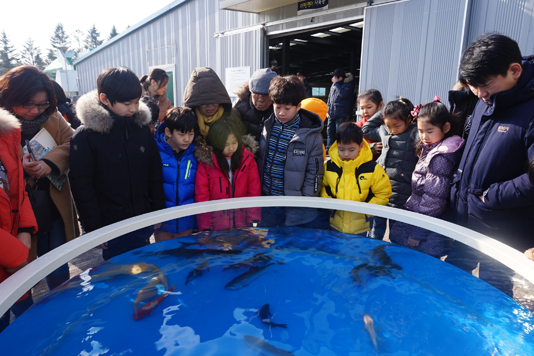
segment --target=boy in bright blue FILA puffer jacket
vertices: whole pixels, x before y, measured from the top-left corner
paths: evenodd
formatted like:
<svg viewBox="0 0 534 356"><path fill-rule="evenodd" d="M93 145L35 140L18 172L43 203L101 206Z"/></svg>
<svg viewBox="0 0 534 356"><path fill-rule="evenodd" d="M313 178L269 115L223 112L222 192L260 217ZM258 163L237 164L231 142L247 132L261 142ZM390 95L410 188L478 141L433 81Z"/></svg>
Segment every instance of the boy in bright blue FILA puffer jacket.
<svg viewBox="0 0 534 356"><path fill-rule="evenodd" d="M187 107L169 110L155 135L163 164L163 190L166 207L194 202L197 159L193 152L198 131L197 117ZM155 231L156 242L193 232L195 216L163 222Z"/></svg>

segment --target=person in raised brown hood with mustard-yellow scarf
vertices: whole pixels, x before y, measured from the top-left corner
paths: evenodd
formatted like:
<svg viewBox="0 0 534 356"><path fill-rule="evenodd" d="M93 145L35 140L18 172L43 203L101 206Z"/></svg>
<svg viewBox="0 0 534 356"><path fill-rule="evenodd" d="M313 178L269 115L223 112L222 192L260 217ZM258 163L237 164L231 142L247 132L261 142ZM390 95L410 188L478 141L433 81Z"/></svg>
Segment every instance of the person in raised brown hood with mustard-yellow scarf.
<svg viewBox="0 0 534 356"><path fill-rule="evenodd" d="M211 68L195 68L184 91L183 106L197 115L200 136L208 135L209 127L220 119L224 112L233 112L232 117L241 118L232 108L232 100L221 79Z"/></svg>

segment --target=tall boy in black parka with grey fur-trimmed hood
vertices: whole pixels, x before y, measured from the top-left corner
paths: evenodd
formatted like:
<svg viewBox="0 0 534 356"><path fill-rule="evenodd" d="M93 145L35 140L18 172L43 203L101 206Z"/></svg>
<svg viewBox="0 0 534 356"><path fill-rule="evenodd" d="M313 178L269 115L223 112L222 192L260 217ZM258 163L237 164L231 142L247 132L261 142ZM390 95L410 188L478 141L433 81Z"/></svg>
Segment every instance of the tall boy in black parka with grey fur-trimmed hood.
<svg viewBox="0 0 534 356"><path fill-rule="evenodd" d="M69 179L85 232L165 208L152 114L141 94L135 73L118 67L101 72L97 90L78 99L83 125L70 140ZM143 228L101 244L102 257L147 245L151 234Z"/></svg>

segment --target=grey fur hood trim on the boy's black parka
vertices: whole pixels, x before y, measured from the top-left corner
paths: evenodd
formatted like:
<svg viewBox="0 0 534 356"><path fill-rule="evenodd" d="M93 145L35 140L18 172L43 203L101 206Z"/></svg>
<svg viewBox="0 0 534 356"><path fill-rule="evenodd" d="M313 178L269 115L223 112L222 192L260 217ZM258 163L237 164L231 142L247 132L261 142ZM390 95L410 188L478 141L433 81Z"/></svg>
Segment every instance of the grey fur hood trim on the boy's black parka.
<svg viewBox="0 0 534 356"><path fill-rule="evenodd" d="M100 103L96 90L84 94L76 102L76 115L86 128L101 134L108 134L113 127L113 114ZM139 103L139 109L133 120L136 125L143 127L152 121L152 113L148 106Z"/></svg>

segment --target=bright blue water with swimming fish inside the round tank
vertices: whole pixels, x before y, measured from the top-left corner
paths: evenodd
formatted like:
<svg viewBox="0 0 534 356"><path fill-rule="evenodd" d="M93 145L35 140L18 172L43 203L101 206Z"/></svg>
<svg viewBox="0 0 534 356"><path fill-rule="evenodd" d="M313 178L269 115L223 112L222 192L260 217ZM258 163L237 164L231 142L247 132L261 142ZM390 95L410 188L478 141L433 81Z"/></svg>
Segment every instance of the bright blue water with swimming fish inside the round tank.
<svg viewBox="0 0 534 356"><path fill-rule="evenodd" d="M124 253L0 334L5 355L533 355L534 317L445 262L338 231L208 231Z"/></svg>

